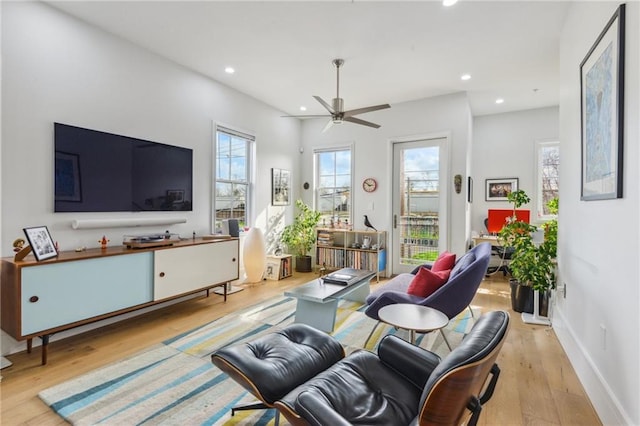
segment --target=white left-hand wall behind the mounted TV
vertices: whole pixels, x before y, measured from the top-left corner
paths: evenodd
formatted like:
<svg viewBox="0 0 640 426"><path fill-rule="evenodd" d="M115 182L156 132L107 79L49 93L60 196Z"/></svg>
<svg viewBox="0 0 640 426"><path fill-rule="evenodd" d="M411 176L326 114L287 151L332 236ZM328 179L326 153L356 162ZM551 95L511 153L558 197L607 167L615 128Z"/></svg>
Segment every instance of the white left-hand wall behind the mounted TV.
<svg viewBox="0 0 640 426"><path fill-rule="evenodd" d="M294 169L298 120L222 84L37 2L2 2L2 256L22 228L47 225L62 250L97 247L103 234L154 228L73 230L76 218L157 217L144 213L53 213L53 123L63 122L194 150L194 211L171 232L211 231L212 126L257 137L254 224L263 230L292 208L270 207L272 167ZM171 213L169 213L171 215ZM15 342L3 334L3 353Z"/></svg>

